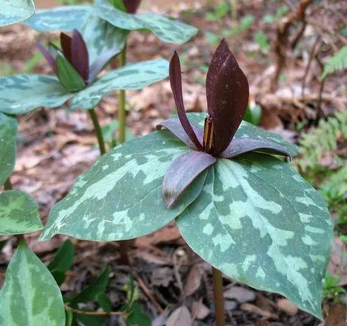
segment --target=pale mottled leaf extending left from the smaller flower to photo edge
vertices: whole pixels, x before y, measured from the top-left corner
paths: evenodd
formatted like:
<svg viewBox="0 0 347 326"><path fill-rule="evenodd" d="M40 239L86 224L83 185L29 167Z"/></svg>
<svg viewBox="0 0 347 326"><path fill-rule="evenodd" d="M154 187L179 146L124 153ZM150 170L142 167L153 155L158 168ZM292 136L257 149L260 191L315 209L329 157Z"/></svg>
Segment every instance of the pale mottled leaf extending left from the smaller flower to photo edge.
<svg viewBox="0 0 347 326"><path fill-rule="evenodd" d="M19 74L0 78L0 112L22 114L39 106L56 108L72 96L55 76Z"/></svg>

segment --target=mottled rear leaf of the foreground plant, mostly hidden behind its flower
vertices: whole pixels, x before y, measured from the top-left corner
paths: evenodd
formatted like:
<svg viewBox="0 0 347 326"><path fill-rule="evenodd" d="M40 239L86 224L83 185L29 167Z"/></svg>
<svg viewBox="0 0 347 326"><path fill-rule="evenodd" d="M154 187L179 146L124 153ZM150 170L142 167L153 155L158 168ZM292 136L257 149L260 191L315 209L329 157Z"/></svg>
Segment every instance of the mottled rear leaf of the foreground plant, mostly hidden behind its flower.
<svg viewBox="0 0 347 326"><path fill-rule="evenodd" d="M187 116L190 122L203 129L205 117L207 117L205 113L187 113ZM260 140L272 140L274 143L284 147L290 156L296 156L296 153L298 152L298 147L296 147L296 145L291 144L291 142L287 142L280 135L278 135L278 133L271 133L259 127L255 127L253 124L246 121L241 122L239 129L237 129L235 133L234 139L243 137L259 138Z"/></svg>

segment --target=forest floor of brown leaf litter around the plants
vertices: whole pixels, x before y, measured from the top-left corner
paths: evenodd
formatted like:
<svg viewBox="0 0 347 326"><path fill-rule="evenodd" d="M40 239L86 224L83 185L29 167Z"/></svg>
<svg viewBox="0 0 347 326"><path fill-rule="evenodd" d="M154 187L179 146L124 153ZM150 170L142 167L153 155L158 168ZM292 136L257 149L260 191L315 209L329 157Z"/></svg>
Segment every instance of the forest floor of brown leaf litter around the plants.
<svg viewBox="0 0 347 326"><path fill-rule="evenodd" d="M58 1L37 2L38 6L58 4ZM222 2L144 1L144 9L179 17L183 22L197 26L199 33L186 44L177 46L164 44L151 34L133 32L128 42L128 62L160 57L169 59L177 50L183 62L187 111L206 111L206 70L218 40L225 36L248 77L251 105L262 108L261 127L278 132L291 142L298 142L301 133L310 132L319 120L346 108L346 74L337 72L329 76L324 81L323 91L319 80L321 62L324 63L341 44L346 45L344 35L335 35L341 24L346 26L344 1L312 4L306 10L307 26L303 35L300 35L303 22L297 19L285 36L279 36L278 31L289 13L296 10L290 8L291 1L230 1L238 4L237 10L225 15L213 9ZM259 31L266 35L266 42L259 40ZM257 40L255 35L258 35ZM44 60L37 56L35 41L46 42L57 36L56 33L39 35L23 25L3 28L0 74L23 71L50 74ZM296 42L295 47L293 42ZM310 65L309 69L307 65ZM278 78L274 77L276 74ZM158 122L174 111L169 81L155 83L144 90L128 91L127 104L127 125L131 133L134 136L150 133ZM115 120L116 94L105 97L97 113L103 126ZM11 181L14 188L33 195L45 221L53 204L67 194L76 177L99 157L92 124L85 111L40 108L20 116L19 126L17 163ZM346 140L341 146L346 146ZM337 213L333 213L332 218L337 219ZM346 225L342 228L346 234ZM40 259L48 263L66 237L56 236L52 241L39 243L38 236L39 233L28 234L25 238ZM99 275L103 266L110 266L112 275L107 293L114 311L126 300L124 285L128 284L131 274L139 288L144 310L154 320L153 325L164 325L173 311L180 313L183 307L187 307L189 314L181 313L180 325L213 325L210 266L189 249L174 223L138 238L130 250L130 267L117 263L117 243L70 240L76 253L74 266L62 284L65 293L80 291ZM15 247L15 238L10 238L0 252L0 285ZM338 275L339 286L347 285L345 252L346 242L335 236L328 269L332 275ZM228 277L224 277L223 282L229 325L323 325L280 295L256 291ZM346 298L332 300L327 294L323 305L327 318L325 325L347 325L343 300ZM118 323L118 317L112 317L108 325Z"/></svg>

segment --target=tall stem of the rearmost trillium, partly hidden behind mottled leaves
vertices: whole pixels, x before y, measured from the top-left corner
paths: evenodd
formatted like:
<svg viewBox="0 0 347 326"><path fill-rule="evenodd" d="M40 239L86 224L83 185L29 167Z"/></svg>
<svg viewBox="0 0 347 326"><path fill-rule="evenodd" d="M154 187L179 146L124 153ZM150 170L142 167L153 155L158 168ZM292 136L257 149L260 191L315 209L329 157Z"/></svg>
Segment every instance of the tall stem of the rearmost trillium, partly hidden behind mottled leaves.
<svg viewBox="0 0 347 326"><path fill-rule="evenodd" d="M119 56L119 67L126 65L126 44ZM126 141L126 91L119 90L118 95L118 144ZM128 250L133 243L131 240L119 241L119 263L129 265Z"/></svg>

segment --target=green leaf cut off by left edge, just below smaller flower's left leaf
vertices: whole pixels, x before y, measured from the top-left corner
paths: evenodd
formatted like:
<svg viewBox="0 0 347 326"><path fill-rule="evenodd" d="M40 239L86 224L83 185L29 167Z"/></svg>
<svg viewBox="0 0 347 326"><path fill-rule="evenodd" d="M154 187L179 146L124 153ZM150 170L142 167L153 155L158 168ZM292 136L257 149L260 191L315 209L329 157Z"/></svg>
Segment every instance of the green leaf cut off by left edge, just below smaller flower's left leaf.
<svg viewBox="0 0 347 326"><path fill-rule="evenodd" d="M0 112L0 186L15 167L17 120Z"/></svg>

